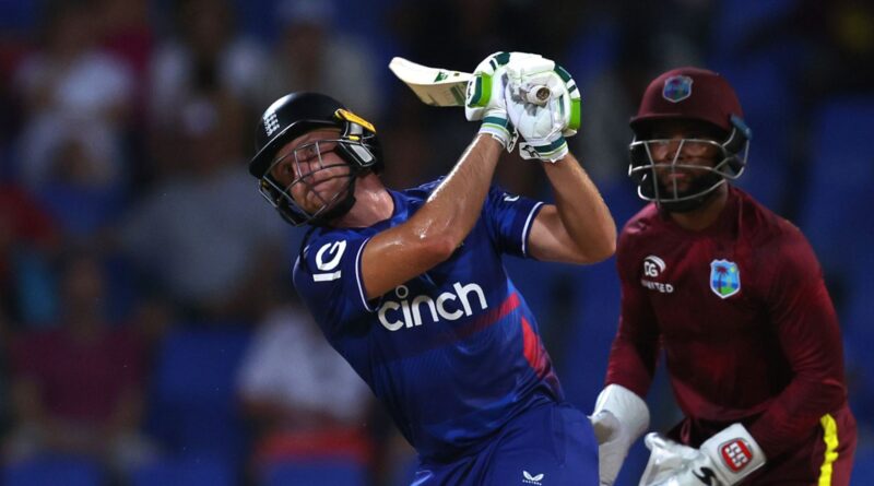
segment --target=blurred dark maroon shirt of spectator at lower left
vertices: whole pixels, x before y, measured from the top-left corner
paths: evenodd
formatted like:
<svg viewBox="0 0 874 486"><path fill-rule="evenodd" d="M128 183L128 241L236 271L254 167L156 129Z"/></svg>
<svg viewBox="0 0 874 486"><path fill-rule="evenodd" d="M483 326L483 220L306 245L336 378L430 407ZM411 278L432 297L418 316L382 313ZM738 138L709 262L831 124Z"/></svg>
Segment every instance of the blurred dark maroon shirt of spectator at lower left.
<svg viewBox="0 0 874 486"><path fill-rule="evenodd" d="M64 329L24 335L11 357L13 378L36 380L47 412L75 422L109 418L121 394L145 380L145 346L126 329L87 342Z"/></svg>

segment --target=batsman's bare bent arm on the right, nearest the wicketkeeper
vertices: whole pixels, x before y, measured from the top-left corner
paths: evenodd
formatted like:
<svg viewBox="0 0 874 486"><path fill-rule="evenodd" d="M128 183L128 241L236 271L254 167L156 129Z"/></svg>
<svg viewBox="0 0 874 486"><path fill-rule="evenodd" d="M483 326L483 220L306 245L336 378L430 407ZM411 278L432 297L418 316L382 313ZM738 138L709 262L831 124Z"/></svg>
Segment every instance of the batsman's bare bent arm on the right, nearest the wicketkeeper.
<svg viewBox="0 0 874 486"><path fill-rule="evenodd" d="M544 261L597 263L616 250L616 224L594 182L568 153L542 164L555 204L538 213L531 227L531 254Z"/></svg>

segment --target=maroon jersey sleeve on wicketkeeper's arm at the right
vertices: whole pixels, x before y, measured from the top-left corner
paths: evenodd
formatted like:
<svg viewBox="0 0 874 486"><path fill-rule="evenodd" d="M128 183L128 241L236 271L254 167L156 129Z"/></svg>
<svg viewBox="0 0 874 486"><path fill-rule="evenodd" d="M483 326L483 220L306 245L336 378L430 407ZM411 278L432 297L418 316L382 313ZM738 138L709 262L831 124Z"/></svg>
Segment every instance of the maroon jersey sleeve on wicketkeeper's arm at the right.
<svg viewBox="0 0 874 486"><path fill-rule="evenodd" d="M813 250L792 227L772 254L768 312L795 376L749 429L769 458L805 439L847 399L838 319Z"/></svg>

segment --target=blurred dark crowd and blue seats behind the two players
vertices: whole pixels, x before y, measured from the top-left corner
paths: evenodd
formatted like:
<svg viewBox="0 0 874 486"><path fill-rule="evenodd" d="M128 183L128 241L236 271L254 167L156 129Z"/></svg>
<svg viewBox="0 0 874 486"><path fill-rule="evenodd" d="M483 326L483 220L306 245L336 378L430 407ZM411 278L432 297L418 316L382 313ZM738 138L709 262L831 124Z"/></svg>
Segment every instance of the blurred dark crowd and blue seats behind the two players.
<svg viewBox="0 0 874 486"><path fill-rule="evenodd" d="M575 76L572 150L618 225L641 208L627 121L674 67L719 71L753 129L740 186L823 263L874 484L874 4L869 0L0 0L0 483L409 484L412 452L295 298L302 229L246 171L262 110L321 91L377 126L389 186L476 130L387 64L497 50ZM538 164L498 182L550 198ZM591 411L613 259L508 259L568 399ZM659 376L653 427L678 416ZM638 444L619 484L637 484Z"/></svg>

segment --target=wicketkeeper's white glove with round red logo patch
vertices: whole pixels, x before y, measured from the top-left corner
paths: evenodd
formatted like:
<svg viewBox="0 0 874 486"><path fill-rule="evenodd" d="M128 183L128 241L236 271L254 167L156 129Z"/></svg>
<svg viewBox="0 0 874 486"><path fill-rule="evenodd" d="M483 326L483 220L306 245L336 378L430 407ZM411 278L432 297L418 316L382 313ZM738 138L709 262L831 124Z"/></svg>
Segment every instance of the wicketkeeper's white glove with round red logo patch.
<svg viewBox="0 0 874 486"><path fill-rule="evenodd" d="M651 451L639 486L732 486L766 463L765 453L741 424L690 448L649 434Z"/></svg>

